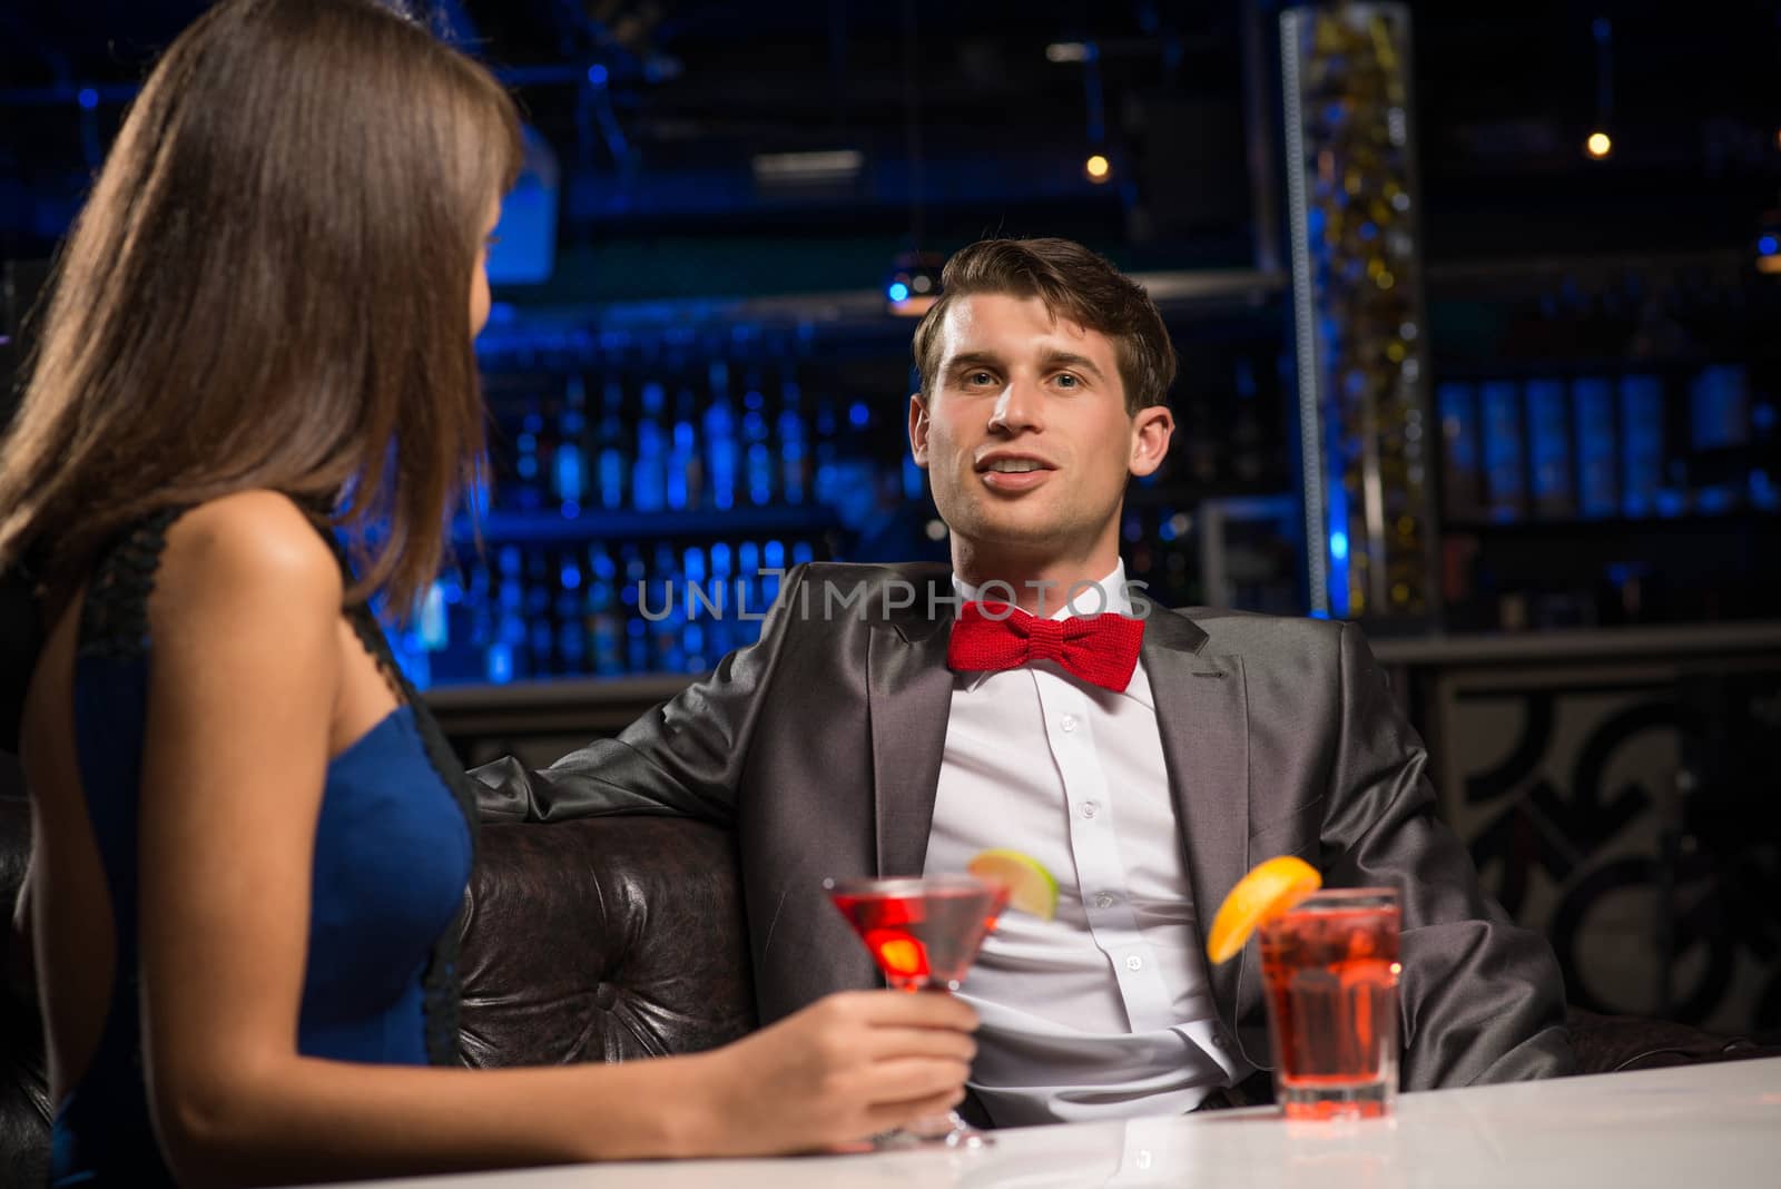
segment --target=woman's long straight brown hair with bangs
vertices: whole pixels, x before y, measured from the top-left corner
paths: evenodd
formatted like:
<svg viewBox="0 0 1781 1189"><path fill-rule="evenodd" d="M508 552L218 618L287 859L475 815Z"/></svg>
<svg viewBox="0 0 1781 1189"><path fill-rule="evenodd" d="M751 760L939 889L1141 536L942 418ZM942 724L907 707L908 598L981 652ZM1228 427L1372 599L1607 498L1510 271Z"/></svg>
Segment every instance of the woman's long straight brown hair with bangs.
<svg viewBox="0 0 1781 1189"><path fill-rule="evenodd" d="M406 609L476 479L470 281L520 162L495 78L374 0L224 0L150 75L0 449L0 570L71 589L159 507L285 491Z"/></svg>

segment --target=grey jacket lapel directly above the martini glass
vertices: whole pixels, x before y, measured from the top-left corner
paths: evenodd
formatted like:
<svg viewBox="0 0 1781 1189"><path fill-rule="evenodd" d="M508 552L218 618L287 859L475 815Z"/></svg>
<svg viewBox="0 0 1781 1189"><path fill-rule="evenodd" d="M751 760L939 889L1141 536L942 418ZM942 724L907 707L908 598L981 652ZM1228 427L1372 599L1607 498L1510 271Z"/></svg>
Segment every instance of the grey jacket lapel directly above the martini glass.
<svg viewBox="0 0 1781 1189"><path fill-rule="evenodd" d="M880 876L919 876L928 858L933 792L953 710L944 630L953 621L951 603L937 603L930 616L926 594L921 591L915 607L896 612L889 628L874 628L867 643Z"/></svg>

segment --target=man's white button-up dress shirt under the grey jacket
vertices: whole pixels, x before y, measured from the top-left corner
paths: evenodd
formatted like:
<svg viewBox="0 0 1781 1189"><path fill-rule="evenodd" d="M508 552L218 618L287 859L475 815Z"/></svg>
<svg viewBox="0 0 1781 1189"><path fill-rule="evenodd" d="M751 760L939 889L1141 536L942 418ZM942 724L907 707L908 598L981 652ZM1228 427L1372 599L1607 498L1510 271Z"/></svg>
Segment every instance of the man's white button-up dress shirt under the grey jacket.
<svg viewBox="0 0 1781 1189"><path fill-rule="evenodd" d="M1099 587L1079 614L1131 612L1124 562ZM1058 879L1056 918L1003 913L960 993L996 1125L1179 1114L1250 1073L1213 1009L1143 660L1122 694L1053 662L955 676L926 870L988 847Z"/></svg>

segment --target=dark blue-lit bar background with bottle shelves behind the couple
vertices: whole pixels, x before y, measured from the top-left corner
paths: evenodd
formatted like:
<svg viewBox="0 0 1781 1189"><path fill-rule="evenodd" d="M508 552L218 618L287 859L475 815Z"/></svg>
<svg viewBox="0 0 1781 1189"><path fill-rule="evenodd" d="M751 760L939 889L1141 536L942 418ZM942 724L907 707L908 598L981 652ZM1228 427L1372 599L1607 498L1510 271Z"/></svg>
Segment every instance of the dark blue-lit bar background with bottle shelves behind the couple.
<svg viewBox="0 0 1781 1189"><path fill-rule="evenodd" d="M0 7L0 367L201 7ZM907 315L1065 235L1183 358L1133 577L1362 621L1580 1004L1781 1031L1781 4L426 7L529 123L484 545L399 635L467 760L622 726L762 570L944 559Z"/></svg>

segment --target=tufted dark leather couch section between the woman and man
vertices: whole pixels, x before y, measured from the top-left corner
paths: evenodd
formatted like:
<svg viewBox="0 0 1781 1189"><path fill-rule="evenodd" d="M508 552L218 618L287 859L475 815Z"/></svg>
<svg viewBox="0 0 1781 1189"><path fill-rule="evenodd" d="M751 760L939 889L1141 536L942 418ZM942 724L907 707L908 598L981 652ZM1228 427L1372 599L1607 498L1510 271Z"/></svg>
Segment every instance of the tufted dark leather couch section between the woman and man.
<svg viewBox="0 0 1781 1189"><path fill-rule="evenodd" d="M467 1064L698 1052L755 1023L727 831L679 817L488 824L467 897Z"/></svg>

